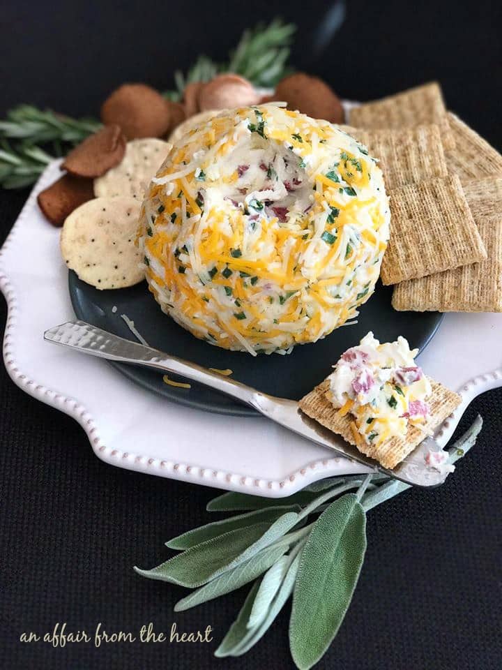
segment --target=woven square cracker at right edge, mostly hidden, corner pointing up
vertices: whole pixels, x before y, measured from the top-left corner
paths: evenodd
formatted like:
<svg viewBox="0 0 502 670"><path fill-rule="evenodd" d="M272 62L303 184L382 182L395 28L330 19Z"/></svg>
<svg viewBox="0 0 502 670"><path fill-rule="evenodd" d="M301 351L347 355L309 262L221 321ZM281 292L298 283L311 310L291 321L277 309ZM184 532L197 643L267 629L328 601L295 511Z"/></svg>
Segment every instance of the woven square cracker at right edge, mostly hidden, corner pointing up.
<svg viewBox="0 0 502 670"><path fill-rule="evenodd" d="M455 114L449 112L448 121L455 137L455 149L446 154L448 167L452 173L458 174L462 184L484 177L502 177L502 156L499 151Z"/></svg>

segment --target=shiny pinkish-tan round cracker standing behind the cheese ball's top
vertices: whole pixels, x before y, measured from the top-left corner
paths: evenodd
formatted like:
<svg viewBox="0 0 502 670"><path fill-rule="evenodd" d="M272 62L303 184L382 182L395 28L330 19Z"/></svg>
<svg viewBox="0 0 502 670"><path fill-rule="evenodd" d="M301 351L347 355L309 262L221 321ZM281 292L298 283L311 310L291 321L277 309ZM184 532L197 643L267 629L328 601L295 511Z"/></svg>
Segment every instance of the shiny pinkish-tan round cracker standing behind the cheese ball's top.
<svg viewBox="0 0 502 670"><path fill-rule="evenodd" d="M244 77L231 73L218 75L211 82L204 84L197 98L201 112L206 110L225 110L232 107L249 107L257 105L260 95L251 82Z"/></svg>

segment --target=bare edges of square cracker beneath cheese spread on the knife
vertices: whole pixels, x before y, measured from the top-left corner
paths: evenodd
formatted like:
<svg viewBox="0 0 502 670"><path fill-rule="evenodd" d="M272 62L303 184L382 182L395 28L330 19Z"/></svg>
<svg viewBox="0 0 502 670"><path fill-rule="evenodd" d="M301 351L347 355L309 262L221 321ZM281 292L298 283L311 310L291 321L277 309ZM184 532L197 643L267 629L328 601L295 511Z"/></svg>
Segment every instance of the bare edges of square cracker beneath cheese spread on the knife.
<svg viewBox="0 0 502 670"><path fill-rule="evenodd" d="M432 386L432 396L427 402L431 411L425 424L420 426L420 429L410 424L406 438L394 437L382 445L368 445L366 442L356 444L351 431L352 415L346 414L344 417L340 417L337 409L326 398L326 391L329 389L327 379L303 397L299 404L301 410L307 416L315 419L333 433L342 435L344 440L351 445L355 445L361 453L379 461L384 468L392 470L397 466L397 463L401 463L425 439L424 431L433 431L460 403L458 394L453 393L433 379L429 378L429 382Z"/></svg>

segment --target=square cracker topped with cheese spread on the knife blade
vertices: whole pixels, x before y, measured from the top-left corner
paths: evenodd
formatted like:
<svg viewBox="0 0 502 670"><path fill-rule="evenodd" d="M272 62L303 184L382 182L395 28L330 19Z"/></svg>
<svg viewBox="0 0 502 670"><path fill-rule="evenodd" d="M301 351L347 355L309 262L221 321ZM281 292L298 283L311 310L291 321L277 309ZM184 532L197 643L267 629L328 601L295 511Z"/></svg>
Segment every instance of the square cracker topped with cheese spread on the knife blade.
<svg viewBox="0 0 502 670"><path fill-rule="evenodd" d="M446 419L460 397L424 375L404 337L368 333L301 399L305 414L392 469Z"/></svg>

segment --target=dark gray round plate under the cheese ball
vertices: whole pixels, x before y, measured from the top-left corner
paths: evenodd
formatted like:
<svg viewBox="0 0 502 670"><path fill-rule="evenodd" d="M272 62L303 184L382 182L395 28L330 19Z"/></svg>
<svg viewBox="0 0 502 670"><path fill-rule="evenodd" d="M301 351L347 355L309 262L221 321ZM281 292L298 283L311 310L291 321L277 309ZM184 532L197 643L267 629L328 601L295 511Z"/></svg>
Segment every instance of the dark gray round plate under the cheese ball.
<svg viewBox="0 0 502 670"><path fill-rule="evenodd" d="M319 384L342 352L358 344L368 331L372 330L381 342L394 341L402 335L411 347L422 350L443 316L438 312L396 312L390 305L392 287L379 284L361 308L357 325L338 328L315 344L295 347L289 356L261 354L253 358L195 338L162 313L144 283L116 291L98 291L70 271L69 288L79 319L132 340L135 337L121 318L121 314L126 314L151 346L206 368L231 368L232 378L262 392L294 400ZM176 403L221 414L258 416L251 408L206 387L192 384L191 389L175 388L165 384L159 373L126 364L112 365L139 385Z"/></svg>

